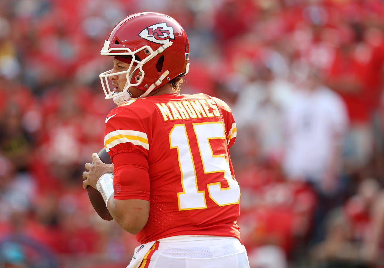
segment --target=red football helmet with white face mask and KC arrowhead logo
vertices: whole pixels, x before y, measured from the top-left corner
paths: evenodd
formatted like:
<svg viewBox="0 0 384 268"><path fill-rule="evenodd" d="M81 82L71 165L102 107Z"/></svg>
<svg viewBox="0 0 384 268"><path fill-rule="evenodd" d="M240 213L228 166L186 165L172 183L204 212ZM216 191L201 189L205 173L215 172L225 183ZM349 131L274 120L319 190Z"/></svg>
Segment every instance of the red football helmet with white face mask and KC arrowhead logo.
<svg viewBox="0 0 384 268"><path fill-rule="evenodd" d="M129 63L127 71L111 74L109 70L99 75L105 99L113 99L117 105L130 99L129 87L143 90L142 98L189 69L187 35L176 20L161 13L142 12L124 18L109 33L100 52ZM124 89L111 91L108 77L124 73Z"/></svg>

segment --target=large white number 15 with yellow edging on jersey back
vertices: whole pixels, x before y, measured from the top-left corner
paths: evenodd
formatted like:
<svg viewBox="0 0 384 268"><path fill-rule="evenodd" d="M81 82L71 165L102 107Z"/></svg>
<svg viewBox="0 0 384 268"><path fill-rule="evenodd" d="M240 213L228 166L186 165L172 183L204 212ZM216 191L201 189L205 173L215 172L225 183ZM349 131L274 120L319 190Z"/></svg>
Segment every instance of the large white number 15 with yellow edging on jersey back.
<svg viewBox="0 0 384 268"><path fill-rule="evenodd" d="M221 122L194 123L193 128L197 138L204 173L222 172L227 180L227 188L222 188L220 182L207 184L209 197L219 206L238 204L240 202L240 187L232 178L226 155L218 155L210 146L211 139L224 139L225 132ZM207 208L204 190L199 191L194 159L190 148L190 139L185 124L174 125L169 133L170 148L177 148L183 192L178 192L179 210ZM201 176L201 175L199 175Z"/></svg>

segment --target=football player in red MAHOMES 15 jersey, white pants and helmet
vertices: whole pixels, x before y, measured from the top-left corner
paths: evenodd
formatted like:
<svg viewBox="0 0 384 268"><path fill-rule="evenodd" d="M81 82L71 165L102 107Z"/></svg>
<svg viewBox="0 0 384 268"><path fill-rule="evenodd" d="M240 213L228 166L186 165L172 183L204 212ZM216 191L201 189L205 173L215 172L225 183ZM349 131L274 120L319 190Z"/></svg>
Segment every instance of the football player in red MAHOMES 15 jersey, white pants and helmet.
<svg viewBox="0 0 384 268"><path fill-rule="evenodd" d="M247 268L237 217L240 188L229 148L232 111L206 94L180 94L189 43L170 16L143 12L121 20L102 55L106 99L104 147L86 163L83 187L94 187L113 219L141 243L128 268ZM111 81L109 82L108 79Z"/></svg>

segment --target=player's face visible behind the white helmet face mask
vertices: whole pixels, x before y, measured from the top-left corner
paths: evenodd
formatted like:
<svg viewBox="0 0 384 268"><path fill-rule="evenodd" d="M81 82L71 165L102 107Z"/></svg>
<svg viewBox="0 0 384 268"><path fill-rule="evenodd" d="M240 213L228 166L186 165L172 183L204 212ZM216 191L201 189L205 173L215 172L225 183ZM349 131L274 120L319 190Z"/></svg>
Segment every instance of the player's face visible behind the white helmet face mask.
<svg viewBox="0 0 384 268"><path fill-rule="evenodd" d="M116 72L122 72L122 71L127 71L129 68L129 64L123 61L119 61L118 59L113 59L113 69L111 74L116 73ZM133 72L133 67L131 68L131 71L129 74ZM114 87L113 91L114 92L120 92L124 89L125 84L127 82L127 74L117 74L114 76L110 76L109 79L112 81L112 86ZM138 98L140 97L144 92L141 91L140 89L136 89L135 87L129 87L128 89L129 92L131 92L133 98Z"/></svg>

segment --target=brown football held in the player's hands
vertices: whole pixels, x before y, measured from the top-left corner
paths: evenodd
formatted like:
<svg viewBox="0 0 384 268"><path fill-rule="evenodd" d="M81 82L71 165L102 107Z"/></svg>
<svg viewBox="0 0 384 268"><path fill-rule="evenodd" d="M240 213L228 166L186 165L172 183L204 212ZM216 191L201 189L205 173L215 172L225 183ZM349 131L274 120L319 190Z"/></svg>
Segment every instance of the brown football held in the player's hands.
<svg viewBox="0 0 384 268"><path fill-rule="evenodd" d="M98 152L98 155L99 155L100 160L103 161L103 163L112 164L111 157L108 155L105 148L101 149ZM93 164L93 161L92 161L92 164ZM111 214L109 214L107 206L105 205L104 199L101 196L101 194L99 193L99 191L94 189L91 186L87 187L87 191L88 191L89 200L91 201L91 204L92 204L94 210L96 210L97 214L99 214L101 219L113 220Z"/></svg>

